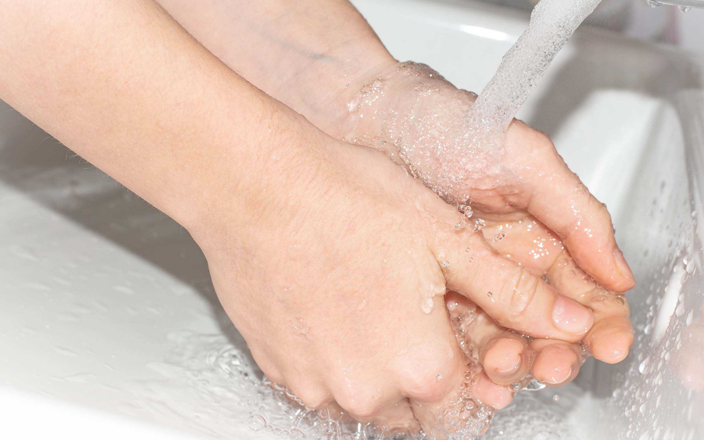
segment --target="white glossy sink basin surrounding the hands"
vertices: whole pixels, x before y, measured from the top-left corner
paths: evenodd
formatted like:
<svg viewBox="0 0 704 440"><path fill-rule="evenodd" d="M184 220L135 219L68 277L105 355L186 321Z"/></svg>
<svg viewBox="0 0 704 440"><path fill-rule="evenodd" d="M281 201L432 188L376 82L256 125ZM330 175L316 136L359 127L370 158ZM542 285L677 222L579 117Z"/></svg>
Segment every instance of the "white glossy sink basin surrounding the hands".
<svg viewBox="0 0 704 440"><path fill-rule="evenodd" d="M354 4L396 58L477 92L527 24L471 1ZM704 438L704 367L685 368L704 359L688 336L704 319L703 72L585 28L519 114L608 204L639 281L624 363L586 364L553 408L517 398L569 421L570 439ZM246 346L187 232L1 102L0 151L0 436L272 437L246 426L249 397L218 369L224 348ZM501 438L537 438L508 415L496 416Z"/></svg>

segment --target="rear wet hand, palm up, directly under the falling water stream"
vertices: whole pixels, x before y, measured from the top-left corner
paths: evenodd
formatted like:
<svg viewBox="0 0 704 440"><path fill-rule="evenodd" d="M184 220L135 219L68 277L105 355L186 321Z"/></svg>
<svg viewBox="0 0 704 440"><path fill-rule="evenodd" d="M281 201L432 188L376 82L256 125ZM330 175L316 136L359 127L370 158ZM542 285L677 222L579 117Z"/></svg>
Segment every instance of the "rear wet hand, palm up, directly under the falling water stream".
<svg viewBox="0 0 704 440"><path fill-rule="evenodd" d="M395 65L376 78L351 102L336 134L384 151L448 202L471 206L467 227L482 219L482 233L496 252L593 310L596 322L583 342L596 358L607 363L625 358L633 328L627 302L617 292L634 286L633 275L605 206L567 168L550 139L515 120L496 149L476 149L467 130L476 95L414 63ZM512 289L507 282L493 296L501 300ZM565 383L577 375L582 356L577 344L505 336L539 351L532 369L541 381ZM513 341L501 344L515 347L513 356L520 351ZM516 379L495 375L501 368L482 361L494 382Z"/></svg>

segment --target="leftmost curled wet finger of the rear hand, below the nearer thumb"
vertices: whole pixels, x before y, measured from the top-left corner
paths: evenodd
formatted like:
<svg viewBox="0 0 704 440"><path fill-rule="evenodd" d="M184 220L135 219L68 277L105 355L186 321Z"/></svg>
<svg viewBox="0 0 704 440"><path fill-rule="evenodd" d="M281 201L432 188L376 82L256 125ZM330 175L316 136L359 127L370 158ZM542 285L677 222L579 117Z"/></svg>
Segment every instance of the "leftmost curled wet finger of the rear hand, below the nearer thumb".
<svg viewBox="0 0 704 440"><path fill-rule="evenodd" d="M491 382L510 385L526 377L532 357L527 338L496 324L460 294L448 292L445 301L465 356L478 358Z"/></svg>

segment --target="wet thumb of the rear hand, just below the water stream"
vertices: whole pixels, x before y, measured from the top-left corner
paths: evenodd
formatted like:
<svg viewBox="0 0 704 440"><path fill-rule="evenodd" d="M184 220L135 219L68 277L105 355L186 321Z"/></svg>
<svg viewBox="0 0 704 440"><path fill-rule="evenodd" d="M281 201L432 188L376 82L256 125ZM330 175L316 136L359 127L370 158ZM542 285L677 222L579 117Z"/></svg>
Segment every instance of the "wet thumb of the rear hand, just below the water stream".
<svg viewBox="0 0 704 440"><path fill-rule="evenodd" d="M551 140L515 122L505 142L522 149L528 144L532 151L531 163L524 167L522 194L510 197L512 202L555 231L579 266L605 287L615 291L634 287L633 274L616 245L608 210L567 168ZM552 171L546 174L545 170Z"/></svg>

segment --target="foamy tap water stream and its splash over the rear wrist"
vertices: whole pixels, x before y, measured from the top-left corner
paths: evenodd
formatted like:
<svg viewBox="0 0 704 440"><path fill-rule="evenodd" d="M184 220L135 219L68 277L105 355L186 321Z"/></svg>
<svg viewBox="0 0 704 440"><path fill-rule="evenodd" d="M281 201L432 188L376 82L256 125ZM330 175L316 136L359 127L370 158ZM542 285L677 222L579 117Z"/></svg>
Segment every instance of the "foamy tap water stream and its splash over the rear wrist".
<svg viewBox="0 0 704 440"><path fill-rule="evenodd" d="M555 55L600 1L541 0L479 96L455 89L427 65L396 65L348 104L358 126L345 138L406 165L461 211L472 190L494 189L499 177L520 169L506 157L503 134ZM394 96L410 99L398 104ZM462 227L460 221L455 229Z"/></svg>

